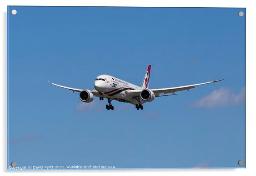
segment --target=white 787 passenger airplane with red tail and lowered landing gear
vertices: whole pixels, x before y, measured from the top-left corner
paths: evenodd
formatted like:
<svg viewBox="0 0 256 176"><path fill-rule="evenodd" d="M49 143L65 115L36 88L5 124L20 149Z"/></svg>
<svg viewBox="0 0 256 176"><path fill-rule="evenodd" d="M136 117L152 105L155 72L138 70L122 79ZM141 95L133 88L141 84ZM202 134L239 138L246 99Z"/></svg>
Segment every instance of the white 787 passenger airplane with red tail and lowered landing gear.
<svg viewBox="0 0 256 176"><path fill-rule="evenodd" d="M104 100L106 98L108 100L108 104L106 104L107 110L114 110L114 106L111 104L112 100L116 100L119 102L131 103L135 104L137 110L143 110L143 105L146 102L152 102L155 97L160 96L171 96L177 95L177 91L184 91L191 88L195 88L198 85L210 84L213 82L219 82L222 80L215 80L210 82L203 82L199 84L192 85L184 85L179 87L172 88L156 88L150 89L149 86L149 78L150 78L151 65L148 65L146 70L143 82L141 86L134 85L130 82L121 80L117 77L113 77L108 74L102 74L96 77L94 81L94 88L96 90L88 90L88 89L78 89L71 88L64 85L59 85L53 82L48 81L52 85L56 85L61 88L66 88L73 92L79 92L79 98L82 102L89 103L94 100L94 96L100 97L100 100ZM170 94L172 93L172 94Z"/></svg>

